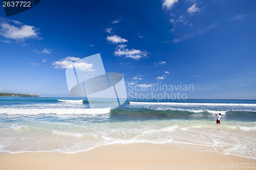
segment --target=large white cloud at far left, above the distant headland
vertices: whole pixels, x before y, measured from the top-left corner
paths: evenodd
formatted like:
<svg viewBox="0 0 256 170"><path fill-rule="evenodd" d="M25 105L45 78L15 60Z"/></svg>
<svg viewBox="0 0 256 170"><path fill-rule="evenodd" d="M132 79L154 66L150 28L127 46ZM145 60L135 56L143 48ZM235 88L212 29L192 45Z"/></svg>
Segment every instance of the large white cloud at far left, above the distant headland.
<svg viewBox="0 0 256 170"><path fill-rule="evenodd" d="M11 20L6 20L8 22L2 22L0 27L0 34L8 39L15 40L24 40L28 38L38 38L38 30L34 26L22 25L20 27L16 27L11 25ZM13 22L13 21L12 21ZM19 22L20 25L21 22ZM17 24L17 22L16 22Z"/></svg>

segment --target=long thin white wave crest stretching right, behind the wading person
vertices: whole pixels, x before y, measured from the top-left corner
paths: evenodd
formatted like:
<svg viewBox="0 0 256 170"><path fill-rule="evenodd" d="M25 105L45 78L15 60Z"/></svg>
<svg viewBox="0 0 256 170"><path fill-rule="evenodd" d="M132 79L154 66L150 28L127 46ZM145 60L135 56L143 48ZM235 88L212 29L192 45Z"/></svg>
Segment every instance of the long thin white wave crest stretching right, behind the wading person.
<svg viewBox="0 0 256 170"><path fill-rule="evenodd" d="M170 103L170 102L129 102L131 105L168 105L168 106L251 106L256 104L239 104L239 103Z"/></svg>

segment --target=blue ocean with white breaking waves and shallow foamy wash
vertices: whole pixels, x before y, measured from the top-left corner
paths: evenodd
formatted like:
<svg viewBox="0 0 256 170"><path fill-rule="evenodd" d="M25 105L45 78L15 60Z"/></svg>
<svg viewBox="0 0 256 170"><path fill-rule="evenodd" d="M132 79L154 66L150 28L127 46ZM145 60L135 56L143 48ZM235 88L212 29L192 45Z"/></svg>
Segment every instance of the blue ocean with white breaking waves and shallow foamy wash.
<svg viewBox="0 0 256 170"><path fill-rule="evenodd" d="M216 125L216 114L221 124ZM111 110L78 98L0 97L0 151L76 153L153 143L256 159L256 100L127 100Z"/></svg>

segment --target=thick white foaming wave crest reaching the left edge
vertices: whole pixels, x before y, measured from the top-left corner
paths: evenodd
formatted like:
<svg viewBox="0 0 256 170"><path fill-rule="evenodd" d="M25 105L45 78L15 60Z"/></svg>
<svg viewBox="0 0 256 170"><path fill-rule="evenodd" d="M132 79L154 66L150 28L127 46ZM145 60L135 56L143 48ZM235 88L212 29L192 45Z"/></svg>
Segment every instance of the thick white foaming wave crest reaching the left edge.
<svg viewBox="0 0 256 170"><path fill-rule="evenodd" d="M0 114L105 114L109 112L110 107L98 109L0 109Z"/></svg>

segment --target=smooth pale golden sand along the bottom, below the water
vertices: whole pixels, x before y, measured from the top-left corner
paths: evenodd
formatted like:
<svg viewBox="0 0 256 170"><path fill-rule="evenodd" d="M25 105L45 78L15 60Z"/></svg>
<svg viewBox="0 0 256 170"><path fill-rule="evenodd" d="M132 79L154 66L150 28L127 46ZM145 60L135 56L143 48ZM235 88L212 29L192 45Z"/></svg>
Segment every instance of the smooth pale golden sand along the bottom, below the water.
<svg viewBox="0 0 256 170"><path fill-rule="evenodd" d="M233 163L233 164L232 164ZM236 167L236 163L240 163ZM243 163L243 164L242 164ZM245 165L245 163L248 163ZM249 168L251 163L251 168ZM157 144L111 144L86 152L0 153L0 169L254 169L255 159ZM241 167L242 166L242 167Z"/></svg>

